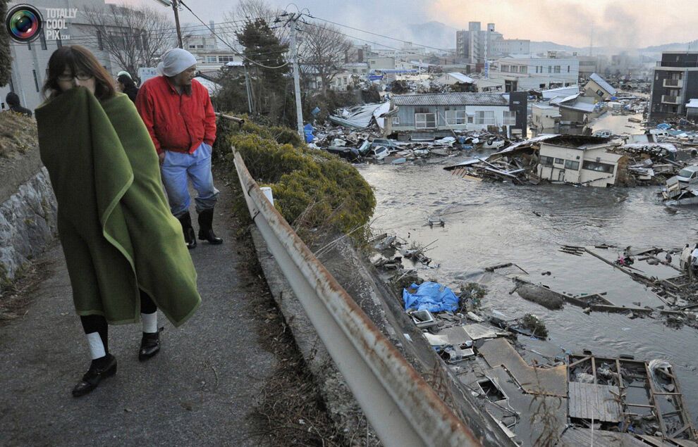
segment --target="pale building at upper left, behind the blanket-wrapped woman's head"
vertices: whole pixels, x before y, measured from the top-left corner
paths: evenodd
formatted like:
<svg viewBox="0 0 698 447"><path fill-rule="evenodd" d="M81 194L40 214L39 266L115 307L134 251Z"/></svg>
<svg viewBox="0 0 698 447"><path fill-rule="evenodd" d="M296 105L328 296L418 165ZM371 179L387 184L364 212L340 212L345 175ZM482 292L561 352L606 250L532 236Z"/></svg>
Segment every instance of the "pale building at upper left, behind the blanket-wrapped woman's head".
<svg viewBox="0 0 698 447"><path fill-rule="evenodd" d="M13 1L8 4L8 9L18 3L23 2ZM47 8L65 8L70 11L76 9L76 16L66 18L66 27L60 30L58 39L47 39L47 34L44 33L39 39L28 44L10 42L12 74L10 83L6 86L0 86L0 101L3 102L1 106L6 108L5 96L9 92L15 92L20 97L23 106L32 110L37 108L44 101L41 89L46 80L49 57L63 45L79 44L85 46L92 51L99 63L104 65L104 68L110 73L116 75L121 70L109 56L109 53L104 51L102 37L90 24L85 13L87 8L103 8L104 0L83 0L77 7L71 0L32 0L31 4L42 15L47 15Z"/></svg>

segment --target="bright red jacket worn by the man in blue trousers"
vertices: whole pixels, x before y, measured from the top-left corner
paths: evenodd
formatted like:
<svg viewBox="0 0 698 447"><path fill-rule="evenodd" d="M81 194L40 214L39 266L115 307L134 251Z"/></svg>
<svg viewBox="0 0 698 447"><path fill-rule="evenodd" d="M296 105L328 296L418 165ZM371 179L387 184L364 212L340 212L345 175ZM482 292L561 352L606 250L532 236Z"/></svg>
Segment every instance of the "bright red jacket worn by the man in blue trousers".
<svg viewBox="0 0 698 447"><path fill-rule="evenodd" d="M145 122L157 153L194 152L203 141L216 141L216 115L209 92L192 80L192 94L178 94L166 77L143 83L136 97L136 108Z"/></svg>

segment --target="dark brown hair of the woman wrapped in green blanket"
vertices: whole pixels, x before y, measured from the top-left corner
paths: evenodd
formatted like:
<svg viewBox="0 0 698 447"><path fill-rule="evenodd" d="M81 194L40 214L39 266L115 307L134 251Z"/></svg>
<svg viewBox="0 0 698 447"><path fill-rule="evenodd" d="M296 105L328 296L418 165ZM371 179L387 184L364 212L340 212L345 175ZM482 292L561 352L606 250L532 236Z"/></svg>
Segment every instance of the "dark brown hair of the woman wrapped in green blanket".
<svg viewBox="0 0 698 447"><path fill-rule="evenodd" d="M66 70L66 66L71 69L73 74L83 71L94 76L94 96L97 96L99 101L109 99L116 94L111 75L102 65L99 65L99 61L90 53L90 50L84 46L71 45L62 46L51 54L46 82L44 82L44 88L42 89L44 97L55 98L61 94L58 77ZM48 96L47 92L49 93Z"/></svg>

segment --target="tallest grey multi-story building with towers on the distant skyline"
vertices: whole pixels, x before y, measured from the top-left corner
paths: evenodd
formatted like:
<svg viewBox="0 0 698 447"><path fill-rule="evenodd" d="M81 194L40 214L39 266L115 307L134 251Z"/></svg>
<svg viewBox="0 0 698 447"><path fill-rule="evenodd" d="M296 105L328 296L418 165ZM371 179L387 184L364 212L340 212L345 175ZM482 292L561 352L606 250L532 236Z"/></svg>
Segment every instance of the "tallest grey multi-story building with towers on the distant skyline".
<svg viewBox="0 0 698 447"><path fill-rule="evenodd" d="M467 30L455 32L455 47L456 53L468 62L484 64L488 59L512 53L529 53L531 41L504 39L501 32L494 29L494 23L488 23L487 29L481 30L479 22L470 22Z"/></svg>

